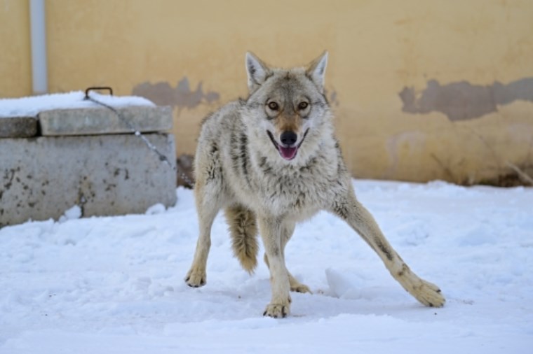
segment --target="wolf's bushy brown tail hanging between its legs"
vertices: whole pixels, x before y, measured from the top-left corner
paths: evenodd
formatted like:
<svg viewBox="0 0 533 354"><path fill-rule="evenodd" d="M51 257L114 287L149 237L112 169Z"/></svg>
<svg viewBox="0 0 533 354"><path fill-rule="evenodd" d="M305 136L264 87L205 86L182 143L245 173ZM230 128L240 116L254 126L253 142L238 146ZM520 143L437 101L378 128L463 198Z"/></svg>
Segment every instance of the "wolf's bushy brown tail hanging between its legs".
<svg viewBox="0 0 533 354"><path fill-rule="evenodd" d="M231 248L241 266L253 273L257 266L257 224L255 213L244 206L231 206L225 210L231 233Z"/></svg>

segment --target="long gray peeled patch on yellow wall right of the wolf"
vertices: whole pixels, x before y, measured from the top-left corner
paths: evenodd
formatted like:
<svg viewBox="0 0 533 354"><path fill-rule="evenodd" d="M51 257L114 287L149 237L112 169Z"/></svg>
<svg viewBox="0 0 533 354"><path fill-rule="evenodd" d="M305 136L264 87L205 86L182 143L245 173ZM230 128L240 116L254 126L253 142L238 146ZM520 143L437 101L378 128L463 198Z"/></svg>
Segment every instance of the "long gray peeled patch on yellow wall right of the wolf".
<svg viewBox="0 0 533 354"><path fill-rule="evenodd" d="M472 85L467 81L440 85L429 80L418 95L414 87L404 87L399 93L402 111L426 114L444 113L449 120L470 120L498 111L498 106L522 100L533 102L533 78L522 78L508 85L495 82L490 86Z"/></svg>

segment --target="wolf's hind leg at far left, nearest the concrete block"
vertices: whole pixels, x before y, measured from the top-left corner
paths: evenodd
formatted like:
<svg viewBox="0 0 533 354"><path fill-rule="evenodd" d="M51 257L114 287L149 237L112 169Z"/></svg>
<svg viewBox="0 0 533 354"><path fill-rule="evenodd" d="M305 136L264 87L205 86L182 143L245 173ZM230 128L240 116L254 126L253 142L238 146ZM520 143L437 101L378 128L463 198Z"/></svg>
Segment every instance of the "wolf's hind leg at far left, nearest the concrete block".
<svg viewBox="0 0 533 354"><path fill-rule="evenodd" d="M196 211L198 212L198 226L200 234L196 242L196 251L191 269L185 276L187 284L193 288L205 285L207 276L205 267L208 261L209 248L211 246L211 226L222 204L220 190L213 185L205 185L197 180L194 187Z"/></svg>

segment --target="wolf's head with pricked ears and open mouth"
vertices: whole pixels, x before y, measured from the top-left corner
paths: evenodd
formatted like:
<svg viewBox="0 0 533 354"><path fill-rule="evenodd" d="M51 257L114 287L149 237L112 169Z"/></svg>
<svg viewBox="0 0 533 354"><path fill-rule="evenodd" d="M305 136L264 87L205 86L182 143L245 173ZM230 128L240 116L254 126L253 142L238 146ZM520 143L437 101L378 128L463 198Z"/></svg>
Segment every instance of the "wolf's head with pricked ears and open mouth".
<svg viewBox="0 0 533 354"><path fill-rule="evenodd" d="M330 134L331 117L324 94L328 52L306 68L273 69L246 53L250 96L243 115L248 134L264 155L305 160Z"/></svg>

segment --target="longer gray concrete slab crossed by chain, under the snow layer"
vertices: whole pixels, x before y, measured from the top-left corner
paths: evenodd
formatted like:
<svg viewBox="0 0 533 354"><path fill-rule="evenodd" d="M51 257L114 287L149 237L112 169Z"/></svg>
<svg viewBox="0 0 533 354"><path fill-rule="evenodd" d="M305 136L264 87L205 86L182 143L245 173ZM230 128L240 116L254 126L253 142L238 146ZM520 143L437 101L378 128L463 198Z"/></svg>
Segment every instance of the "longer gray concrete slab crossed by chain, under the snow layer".
<svg viewBox="0 0 533 354"><path fill-rule="evenodd" d="M140 132L161 132L172 128L172 108L169 106L126 106L115 109ZM124 120L104 107L42 111L38 118L43 136L131 132Z"/></svg>

